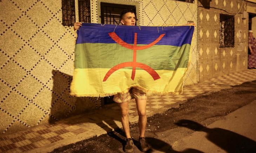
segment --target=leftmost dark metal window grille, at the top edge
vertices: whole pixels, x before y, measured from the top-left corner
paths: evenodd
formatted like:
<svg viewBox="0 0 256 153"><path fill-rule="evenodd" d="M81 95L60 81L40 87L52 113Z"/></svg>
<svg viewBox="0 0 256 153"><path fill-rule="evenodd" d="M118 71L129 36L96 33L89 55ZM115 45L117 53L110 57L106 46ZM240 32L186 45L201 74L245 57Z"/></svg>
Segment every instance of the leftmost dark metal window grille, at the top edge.
<svg viewBox="0 0 256 153"><path fill-rule="evenodd" d="M62 0L62 24L73 25L75 22L75 0Z"/></svg>

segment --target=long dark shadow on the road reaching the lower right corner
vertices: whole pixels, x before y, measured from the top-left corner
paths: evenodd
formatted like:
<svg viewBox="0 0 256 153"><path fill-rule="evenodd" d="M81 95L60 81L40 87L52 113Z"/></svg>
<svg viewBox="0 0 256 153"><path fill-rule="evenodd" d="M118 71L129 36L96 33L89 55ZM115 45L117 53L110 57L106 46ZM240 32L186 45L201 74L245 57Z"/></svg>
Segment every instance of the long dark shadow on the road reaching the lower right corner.
<svg viewBox="0 0 256 153"><path fill-rule="evenodd" d="M256 152L256 142L238 133L221 128L210 129L191 120L180 120L175 124L180 127L189 128L194 131L206 132L206 138L209 141L211 141L212 143L214 143L215 145L222 148L228 153Z"/></svg>

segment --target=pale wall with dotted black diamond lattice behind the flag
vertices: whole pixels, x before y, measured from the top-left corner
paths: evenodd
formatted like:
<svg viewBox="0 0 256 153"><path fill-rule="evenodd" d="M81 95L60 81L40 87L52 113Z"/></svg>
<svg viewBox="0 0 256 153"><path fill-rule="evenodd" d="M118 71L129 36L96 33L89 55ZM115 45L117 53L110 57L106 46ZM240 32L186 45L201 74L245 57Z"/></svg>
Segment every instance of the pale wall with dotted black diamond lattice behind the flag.
<svg viewBox="0 0 256 153"><path fill-rule="evenodd" d="M105 0L107 1L107 0ZM197 0L108 0L138 4L140 25L197 22ZM98 23L100 0L91 0ZM61 0L0 0L0 132L101 107L96 98L69 96L74 61L73 27L63 26ZM197 29L186 84L198 82Z"/></svg>

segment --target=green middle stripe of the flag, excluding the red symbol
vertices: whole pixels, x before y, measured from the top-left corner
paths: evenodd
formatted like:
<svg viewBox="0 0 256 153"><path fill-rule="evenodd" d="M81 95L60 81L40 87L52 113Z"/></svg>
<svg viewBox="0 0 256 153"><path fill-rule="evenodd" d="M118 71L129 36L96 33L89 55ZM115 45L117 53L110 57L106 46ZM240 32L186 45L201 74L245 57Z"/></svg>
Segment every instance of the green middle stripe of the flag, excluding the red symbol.
<svg viewBox="0 0 256 153"><path fill-rule="evenodd" d="M136 62L147 64L154 70L187 68L189 49L189 44L184 44L181 47L154 45L148 49L137 51ZM75 69L112 68L117 64L132 61L133 50L120 47L119 44L85 43L75 45ZM127 69L132 68L128 67Z"/></svg>

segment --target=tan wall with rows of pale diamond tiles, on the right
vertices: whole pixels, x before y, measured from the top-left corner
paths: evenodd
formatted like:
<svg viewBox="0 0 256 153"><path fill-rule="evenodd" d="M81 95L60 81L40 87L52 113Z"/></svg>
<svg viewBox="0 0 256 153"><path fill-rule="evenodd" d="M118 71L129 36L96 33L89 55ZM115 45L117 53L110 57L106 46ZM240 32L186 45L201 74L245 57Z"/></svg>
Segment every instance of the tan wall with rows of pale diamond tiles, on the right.
<svg viewBox="0 0 256 153"><path fill-rule="evenodd" d="M245 2L212 0L210 9L198 7L199 13L199 81L247 69L248 16L242 19ZM220 14L235 15L235 47L220 48ZM238 30L242 30L243 50L238 48Z"/></svg>

